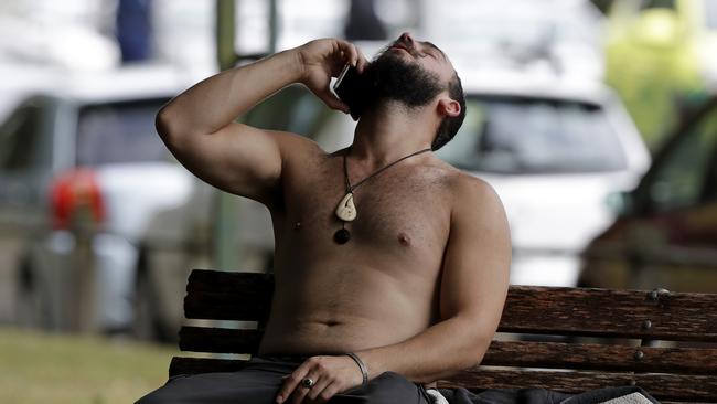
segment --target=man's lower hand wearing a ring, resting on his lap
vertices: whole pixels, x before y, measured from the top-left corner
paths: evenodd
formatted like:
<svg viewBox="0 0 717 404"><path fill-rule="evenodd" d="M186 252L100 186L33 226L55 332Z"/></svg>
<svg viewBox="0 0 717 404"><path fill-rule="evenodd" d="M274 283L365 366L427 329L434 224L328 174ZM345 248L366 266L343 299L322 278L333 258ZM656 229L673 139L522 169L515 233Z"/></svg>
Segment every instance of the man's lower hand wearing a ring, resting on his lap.
<svg viewBox="0 0 717 404"><path fill-rule="evenodd" d="M311 389L301 385L311 379ZM277 403L291 396L291 404L325 403L336 393L344 392L363 383L361 370L353 359L342 357L312 357L288 375L279 389Z"/></svg>

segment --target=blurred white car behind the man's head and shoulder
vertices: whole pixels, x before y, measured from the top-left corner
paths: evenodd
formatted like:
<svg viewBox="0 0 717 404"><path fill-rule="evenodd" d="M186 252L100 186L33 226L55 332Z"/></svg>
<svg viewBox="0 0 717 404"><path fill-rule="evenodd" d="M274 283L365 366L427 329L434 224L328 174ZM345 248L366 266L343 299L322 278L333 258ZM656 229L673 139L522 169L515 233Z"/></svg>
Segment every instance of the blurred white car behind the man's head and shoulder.
<svg viewBox="0 0 717 404"><path fill-rule="evenodd" d="M439 157L491 183L513 240L511 283L575 286L579 252L614 215L650 156L617 96L570 77L480 74L468 116Z"/></svg>

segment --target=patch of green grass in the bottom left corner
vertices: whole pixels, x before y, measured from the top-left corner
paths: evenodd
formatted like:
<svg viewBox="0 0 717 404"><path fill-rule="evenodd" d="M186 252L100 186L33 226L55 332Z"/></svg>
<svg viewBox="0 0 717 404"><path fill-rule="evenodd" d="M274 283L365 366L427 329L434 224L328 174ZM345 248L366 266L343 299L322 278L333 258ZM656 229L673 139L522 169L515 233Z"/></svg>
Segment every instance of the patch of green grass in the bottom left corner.
<svg viewBox="0 0 717 404"><path fill-rule="evenodd" d="M176 349L0 328L0 403L133 403L167 381Z"/></svg>

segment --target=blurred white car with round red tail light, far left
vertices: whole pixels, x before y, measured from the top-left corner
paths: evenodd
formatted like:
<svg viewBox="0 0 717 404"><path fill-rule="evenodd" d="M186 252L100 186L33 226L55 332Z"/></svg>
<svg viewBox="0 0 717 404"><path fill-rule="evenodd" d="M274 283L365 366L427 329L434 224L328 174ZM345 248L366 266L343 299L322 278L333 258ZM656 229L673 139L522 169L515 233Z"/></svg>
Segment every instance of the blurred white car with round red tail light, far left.
<svg viewBox="0 0 717 404"><path fill-rule="evenodd" d="M157 110L189 82L161 66L57 73L8 115L0 270L14 279L3 307L14 307L18 322L104 331L130 323L148 217L192 190L154 131Z"/></svg>

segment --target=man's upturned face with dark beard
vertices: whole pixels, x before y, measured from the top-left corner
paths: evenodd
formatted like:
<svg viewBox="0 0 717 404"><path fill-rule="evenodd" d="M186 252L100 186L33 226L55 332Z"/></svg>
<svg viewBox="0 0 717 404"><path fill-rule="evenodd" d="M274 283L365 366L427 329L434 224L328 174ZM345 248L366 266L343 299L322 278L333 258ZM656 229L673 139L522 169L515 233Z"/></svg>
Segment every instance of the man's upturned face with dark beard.
<svg viewBox="0 0 717 404"><path fill-rule="evenodd" d="M402 34L373 60L366 70L376 99L390 99L419 107L446 91L453 68L430 42L416 42Z"/></svg>

